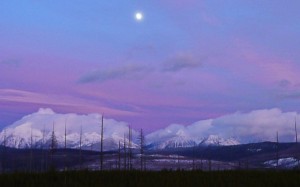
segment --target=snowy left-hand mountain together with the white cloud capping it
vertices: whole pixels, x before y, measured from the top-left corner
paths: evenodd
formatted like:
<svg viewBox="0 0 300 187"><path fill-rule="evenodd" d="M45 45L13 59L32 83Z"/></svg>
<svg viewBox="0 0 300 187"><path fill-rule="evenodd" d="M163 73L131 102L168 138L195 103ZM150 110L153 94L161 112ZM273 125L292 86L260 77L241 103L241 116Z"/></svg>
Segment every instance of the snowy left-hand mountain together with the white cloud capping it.
<svg viewBox="0 0 300 187"><path fill-rule="evenodd" d="M6 127L0 142L14 148L49 147L54 132L57 147L64 147L65 126L68 148L100 149L101 115L57 114L51 109L40 109ZM124 122L104 118L104 150L117 149L119 142L128 143L128 126ZM137 132L132 130L133 140ZM80 141L81 137L81 141ZM135 142L132 147L137 147Z"/></svg>

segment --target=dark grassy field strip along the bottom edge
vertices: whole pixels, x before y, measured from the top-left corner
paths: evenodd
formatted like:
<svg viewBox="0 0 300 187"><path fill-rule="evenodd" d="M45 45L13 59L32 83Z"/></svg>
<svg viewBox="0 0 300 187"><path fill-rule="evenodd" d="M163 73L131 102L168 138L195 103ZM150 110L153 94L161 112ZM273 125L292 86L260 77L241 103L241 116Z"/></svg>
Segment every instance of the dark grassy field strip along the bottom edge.
<svg viewBox="0 0 300 187"><path fill-rule="evenodd" d="M1 187L52 186L228 186L268 187L300 186L299 171L72 171L48 173L14 173L0 175Z"/></svg>

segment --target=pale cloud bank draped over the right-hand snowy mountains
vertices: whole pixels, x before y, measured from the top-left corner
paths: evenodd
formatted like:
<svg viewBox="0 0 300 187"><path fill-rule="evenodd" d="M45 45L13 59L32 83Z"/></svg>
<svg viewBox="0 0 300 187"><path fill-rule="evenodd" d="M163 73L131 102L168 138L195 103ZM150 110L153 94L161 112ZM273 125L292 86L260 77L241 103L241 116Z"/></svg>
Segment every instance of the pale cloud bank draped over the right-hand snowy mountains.
<svg viewBox="0 0 300 187"><path fill-rule="evenodd" d="M195 122L188 126L172 124L148 135L148 139L167 139L186 136L193 139L217 135L220 138L235 138L241 143L275 141L279 133L280 141L295 141L296 112L283 112L278 108L254 110L248 113L236 112L215 119Z"/></svg>

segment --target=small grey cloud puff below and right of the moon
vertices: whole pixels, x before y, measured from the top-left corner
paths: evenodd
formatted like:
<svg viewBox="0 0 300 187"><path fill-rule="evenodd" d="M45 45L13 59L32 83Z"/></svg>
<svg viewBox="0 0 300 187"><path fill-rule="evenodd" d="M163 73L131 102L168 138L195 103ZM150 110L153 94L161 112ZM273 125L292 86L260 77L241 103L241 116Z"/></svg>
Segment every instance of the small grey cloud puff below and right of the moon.
<svg viewBox="0 0 300 187"><path fill-rule="evenodd" d="M180 53L165 61L163 71L176 72L183 69L197 68L202 65L202 60L188 53Z"/></svg>

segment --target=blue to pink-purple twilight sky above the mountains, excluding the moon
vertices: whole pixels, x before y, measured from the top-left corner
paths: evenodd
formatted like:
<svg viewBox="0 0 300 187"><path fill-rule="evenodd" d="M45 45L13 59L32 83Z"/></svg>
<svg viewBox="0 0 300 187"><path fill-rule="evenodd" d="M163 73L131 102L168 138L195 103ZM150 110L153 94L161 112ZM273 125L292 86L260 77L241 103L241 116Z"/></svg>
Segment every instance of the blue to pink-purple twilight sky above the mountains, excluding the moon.
<svg viewBox="0 0 300 187"><path fill-rule="evenodd" d="M298 113L299 8L298 0L0 1L0 127L39 108L100 113L146 132L236 112Z"/></svg>

